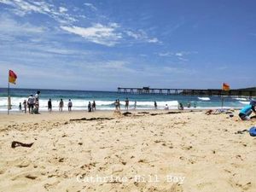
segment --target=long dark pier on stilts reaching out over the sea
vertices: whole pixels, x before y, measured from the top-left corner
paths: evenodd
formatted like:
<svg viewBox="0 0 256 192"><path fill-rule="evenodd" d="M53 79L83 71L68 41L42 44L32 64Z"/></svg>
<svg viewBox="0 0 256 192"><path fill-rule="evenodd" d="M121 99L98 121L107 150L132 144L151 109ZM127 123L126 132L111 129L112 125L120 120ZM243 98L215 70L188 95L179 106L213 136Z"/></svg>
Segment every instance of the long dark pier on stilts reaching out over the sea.
<svg viewBox="0 0 256 192"><path fill-rule="evenodd" d="M182 96L256 96L256 88L221 90L221 89L161 89L161 88L127 88L118 87L119 93L129 94L166 94Z"/></svg>

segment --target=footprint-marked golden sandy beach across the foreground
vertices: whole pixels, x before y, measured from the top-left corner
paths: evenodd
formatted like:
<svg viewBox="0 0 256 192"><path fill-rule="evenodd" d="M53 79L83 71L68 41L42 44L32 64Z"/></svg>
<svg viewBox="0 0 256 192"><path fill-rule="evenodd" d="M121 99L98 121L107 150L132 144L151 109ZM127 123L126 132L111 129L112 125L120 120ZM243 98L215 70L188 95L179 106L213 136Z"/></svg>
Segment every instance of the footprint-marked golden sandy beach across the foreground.
<svg viewBox="0 0 256 192"><path fill-rule="evenodd" d="M237 113L2 113L0 191L254 192L256 137L236 132L255 121Z"/></svg>

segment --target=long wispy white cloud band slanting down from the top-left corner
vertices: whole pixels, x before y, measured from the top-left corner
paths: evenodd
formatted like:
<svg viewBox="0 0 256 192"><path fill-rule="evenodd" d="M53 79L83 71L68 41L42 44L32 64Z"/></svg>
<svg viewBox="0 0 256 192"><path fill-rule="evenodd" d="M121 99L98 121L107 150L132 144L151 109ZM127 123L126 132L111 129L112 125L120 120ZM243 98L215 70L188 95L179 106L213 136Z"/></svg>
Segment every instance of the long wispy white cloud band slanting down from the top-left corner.
<svg viewBox="0 0 256 192"><path fill-rule="evenodd" d="M15 15L22 17L34 13L47 15L59 24L57 26L60 26L61 30L79 35L87 41L93 42L95 44L114 46L115 44L119 44L121 39L124 40L125 43L129 41L130 44L161 43L158 38L148 37L148 34L143 30L138 30L137 32L133 32L131 30L125 31L125 28L119 26L119 24L115 22L108 24L96 23L92 24L90 27L84 27L81 25L79 26L78 24L74 25L74 22L81 21L81 19L87 19L87 17L81 15L81 12L79 12L77 15L70 15L69 10L72 9L67 9L64 6L55 6L55 4L53 4L51 1L44 2L40 0L0 0L0 3L8 5L9 10L11 10ZM84 6L96 10L96 7L91 3L84 3ZM107 17L102 16L102 18ZM108 18L106 20L108 20ZM136 41L131 41L131 38L135 39Z"/></svg>

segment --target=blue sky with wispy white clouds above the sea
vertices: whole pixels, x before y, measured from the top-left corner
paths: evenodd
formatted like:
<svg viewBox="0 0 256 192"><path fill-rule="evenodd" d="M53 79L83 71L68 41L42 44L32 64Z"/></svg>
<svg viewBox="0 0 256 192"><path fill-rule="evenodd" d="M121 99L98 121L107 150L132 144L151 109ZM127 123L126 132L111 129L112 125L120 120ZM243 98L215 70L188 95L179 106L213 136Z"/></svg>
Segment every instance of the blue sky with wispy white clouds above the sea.
<svg viewBox="0 0 256 192"><path fill-rule="evenodd" d="M254 0L0 0L0 87L256 86Z"/></svg>

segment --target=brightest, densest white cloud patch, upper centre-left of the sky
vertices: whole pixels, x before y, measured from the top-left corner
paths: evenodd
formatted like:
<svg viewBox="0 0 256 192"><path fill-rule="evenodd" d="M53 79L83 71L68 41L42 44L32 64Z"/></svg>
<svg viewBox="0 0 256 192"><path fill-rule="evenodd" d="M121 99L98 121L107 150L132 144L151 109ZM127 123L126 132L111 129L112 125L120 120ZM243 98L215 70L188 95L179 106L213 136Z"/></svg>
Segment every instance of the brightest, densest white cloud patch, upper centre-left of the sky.
<svg viewBox="0 0 256 192"><path fill-rule="evenodd" d="M115 32L116 28L117 26L114 24L103 26L99 23L87 28L79 26L61 26L61 29L67 32L77 34L90 42L107 46L118 44L118 40L122 38L120 33Z"/></svg>

